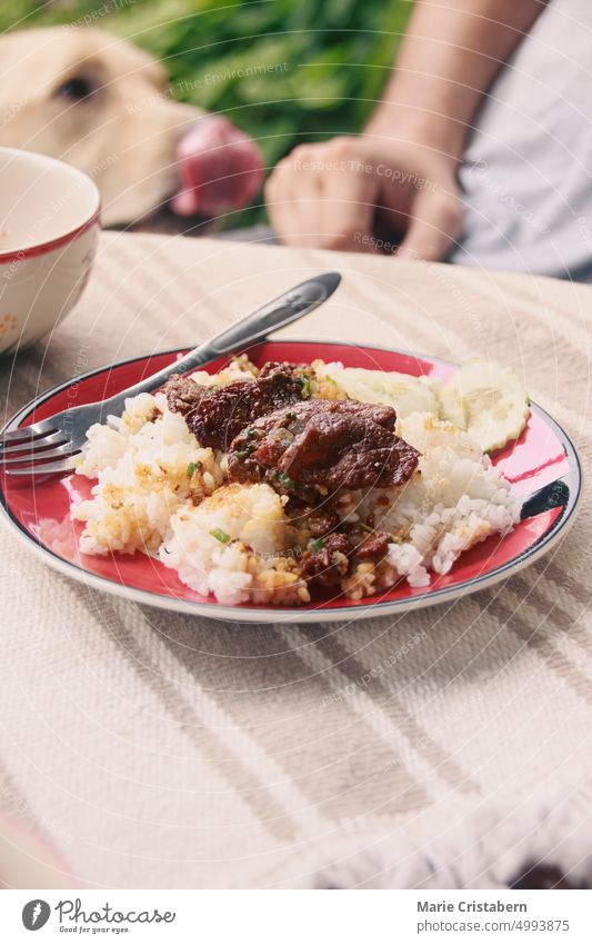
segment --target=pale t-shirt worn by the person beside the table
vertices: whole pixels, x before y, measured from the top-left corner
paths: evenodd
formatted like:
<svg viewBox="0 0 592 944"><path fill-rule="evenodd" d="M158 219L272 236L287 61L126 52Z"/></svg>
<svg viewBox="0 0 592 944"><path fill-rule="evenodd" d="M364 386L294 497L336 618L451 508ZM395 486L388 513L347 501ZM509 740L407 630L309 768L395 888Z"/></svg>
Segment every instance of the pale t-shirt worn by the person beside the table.
<svg viewBox="0 0 592 944"><path fill-rule="evenodd" d="M592 0L541 13L478 116L460 180L451 261L592 281Z"/></svg>

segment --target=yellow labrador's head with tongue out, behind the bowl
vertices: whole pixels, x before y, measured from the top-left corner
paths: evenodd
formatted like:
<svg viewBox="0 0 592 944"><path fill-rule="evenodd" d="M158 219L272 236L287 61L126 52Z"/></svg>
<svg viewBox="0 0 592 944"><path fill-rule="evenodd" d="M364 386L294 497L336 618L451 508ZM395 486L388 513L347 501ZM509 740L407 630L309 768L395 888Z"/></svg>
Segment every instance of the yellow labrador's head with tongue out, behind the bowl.
<svg viewBox="0 0 592 944"><path fill-rule="evenodd" d="M160 63L101 30L8 33L0 37L0 146L90 173L108 227L153 220L159 228L164 216L187 228L194 215L249 202L263 176L257 145L167 89Z"/></svg>

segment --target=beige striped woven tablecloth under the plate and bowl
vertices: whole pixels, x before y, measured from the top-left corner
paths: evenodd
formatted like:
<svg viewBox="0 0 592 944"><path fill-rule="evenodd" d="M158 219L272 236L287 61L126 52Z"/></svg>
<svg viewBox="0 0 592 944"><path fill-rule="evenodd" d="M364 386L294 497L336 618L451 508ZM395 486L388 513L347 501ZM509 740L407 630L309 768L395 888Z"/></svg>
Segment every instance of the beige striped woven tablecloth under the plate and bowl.
<svg viewBox="0 0 592 944"><path fill-rule="evenodd" d="M193 345L327 268L292 336L486 355L590 461L592 289L219 240L104 235L51 337L0 366L7 416L94 366ZM47 569L2 529L0 808L108 887L590 881L591 505L544 560L453 605L239 626Z"/></svg>

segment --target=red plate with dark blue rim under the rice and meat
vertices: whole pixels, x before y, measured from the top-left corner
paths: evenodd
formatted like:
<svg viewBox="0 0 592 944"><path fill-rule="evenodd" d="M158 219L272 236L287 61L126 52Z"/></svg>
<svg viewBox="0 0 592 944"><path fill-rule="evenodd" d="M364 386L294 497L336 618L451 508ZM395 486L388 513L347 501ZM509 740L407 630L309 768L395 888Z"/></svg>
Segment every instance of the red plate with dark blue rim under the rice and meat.
<svg viewBox="0 0 592 944"><path fill-rule="evenodd" d="M28 404L7 429L26 426L76 404L104 399L142 377L173 362L184 351L167 351L99 368L56 387ZM255 364L265 360L340 360L345 367L399 370L412 376L448 377L455 366L410 351L343 345L337 341L267 341L249 351ZM219 370L224 359L208 369ZM143 554L91 557L80 554L77 537L81 525L69 520L73 498L90 496L92 483L74 474L47 480L14 480L2 475L0 499L10 526L41 558L57 570L88 586L164 609L233 622L319 623L401 613L435 603L451 602L504 579L528 566L563 536L573 521L582 491L581 465L561 427L532 405L521 437L493 457L512 490L530 501L515 529L504 538L493 535L462 555L452 570L433 576L429 587L401 583L389 593L354 603L343 597L319 596L303 607L242 604L224 606L185 587L174 572ZM556 483L556 485L553 485Z"/></svg>

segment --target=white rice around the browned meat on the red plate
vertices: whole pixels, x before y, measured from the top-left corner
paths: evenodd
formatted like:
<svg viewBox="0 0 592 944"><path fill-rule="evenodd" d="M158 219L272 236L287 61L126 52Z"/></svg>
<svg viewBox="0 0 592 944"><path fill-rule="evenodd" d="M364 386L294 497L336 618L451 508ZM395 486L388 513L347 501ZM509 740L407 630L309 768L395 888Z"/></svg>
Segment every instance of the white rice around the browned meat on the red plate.
<svg viewBox="0 0 592 944"><path fill-rule="evenodd" d="M248 362L208 382L239 376L253 376ZM428 413L405 417L398 433L421 453L412 478L400 488L339 498L343 520L371 523L393 536L385 558L360 562L343 578L342 592L352 598L401 577L428 586L464 550L506 534L519 518L509 484L466 434ZM97 479L92 498L71 509L84 523L83 553L158 554L189 587L229 605L310 599L298 564L303 545L285 515L285 497L268 485L229 486L223 454L200 447L162 394L134 397L122 417L91 427L78 473Z"/></svg>

